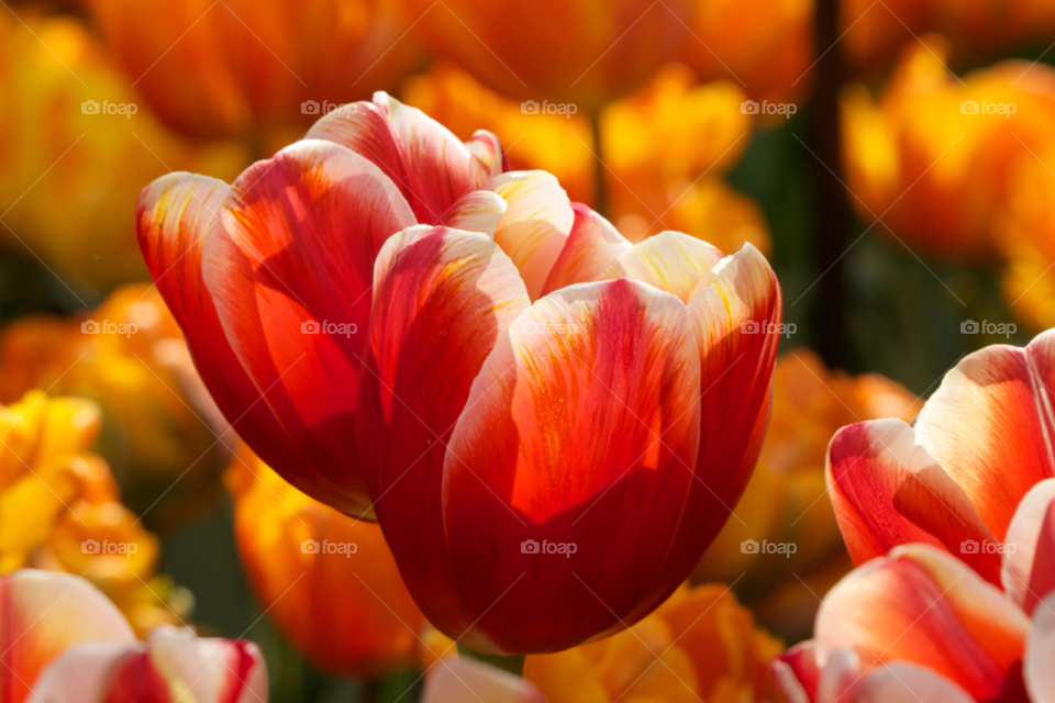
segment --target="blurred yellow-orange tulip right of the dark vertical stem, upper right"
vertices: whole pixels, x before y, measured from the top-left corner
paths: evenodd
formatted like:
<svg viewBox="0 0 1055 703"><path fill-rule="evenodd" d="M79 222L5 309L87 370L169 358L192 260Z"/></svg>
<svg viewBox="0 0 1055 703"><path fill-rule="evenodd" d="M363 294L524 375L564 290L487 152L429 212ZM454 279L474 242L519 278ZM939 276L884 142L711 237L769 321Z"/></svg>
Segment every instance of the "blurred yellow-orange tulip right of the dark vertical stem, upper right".
<svg viewBox="0 0 1055 703"><path fill-rule="evenodd" d="M944 42L924 41L906 49L878 104L862 86L843 94L849 201L910 248L978 258L996 248L993 217L1010 196L1012 166L1050 136L1055 71L1007 62L962 85L942 64Z"/></svg>

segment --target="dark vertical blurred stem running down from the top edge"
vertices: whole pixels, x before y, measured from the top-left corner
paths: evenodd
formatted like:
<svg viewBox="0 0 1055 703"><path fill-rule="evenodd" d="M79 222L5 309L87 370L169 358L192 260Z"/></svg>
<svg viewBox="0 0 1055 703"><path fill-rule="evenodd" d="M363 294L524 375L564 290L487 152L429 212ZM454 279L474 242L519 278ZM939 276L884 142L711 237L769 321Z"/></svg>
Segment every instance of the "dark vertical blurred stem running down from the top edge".
<svg viewBox="0 0 1055 703"><path fill-rule="evenodd" d="M817 51L839 41L839 0L817 2ZM845 80L841 47L835 46L817 64L813 98L813 150L823 165L817 174L817 274L820 300L813 310L817 350L831 367L852 368L846 331L845 258L851 224L840 156L839 92ZM825 166L828 168L825 168ZM829 170L831 169L831 171ZM831 269L831 270L829 270ZM824 274L824 271L828 271Z"/></svg>

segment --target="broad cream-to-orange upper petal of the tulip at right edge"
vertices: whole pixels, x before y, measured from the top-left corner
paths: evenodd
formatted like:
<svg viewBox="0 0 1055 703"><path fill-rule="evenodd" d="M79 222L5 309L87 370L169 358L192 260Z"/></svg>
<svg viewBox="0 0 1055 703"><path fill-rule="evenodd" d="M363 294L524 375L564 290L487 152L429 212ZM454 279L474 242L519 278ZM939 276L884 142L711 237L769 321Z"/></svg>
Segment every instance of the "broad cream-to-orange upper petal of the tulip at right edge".
<svg viewBox="0 0 1055 703"><path fill-rule="evenodd" d="M1002 540L1022 496L1055 476L1055 331L995 345L946 373L915 423L918 442ZM1009 470L1013 467L1013 470Z"/></svg>

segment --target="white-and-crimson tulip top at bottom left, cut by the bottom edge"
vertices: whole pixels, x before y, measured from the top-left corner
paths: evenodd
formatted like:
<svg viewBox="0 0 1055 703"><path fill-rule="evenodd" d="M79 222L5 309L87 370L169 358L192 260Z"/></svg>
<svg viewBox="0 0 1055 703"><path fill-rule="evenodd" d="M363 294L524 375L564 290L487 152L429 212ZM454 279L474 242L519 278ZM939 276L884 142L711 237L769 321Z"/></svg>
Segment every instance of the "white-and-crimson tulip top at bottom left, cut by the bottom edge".
<svg viewBox="0 0 1055 703"><path fill-rule="evenodd" d="M52 661L34 701L224 701L267 703L267 663L242 639L201 639L162 625L144 643L86 643Z"/></svg>

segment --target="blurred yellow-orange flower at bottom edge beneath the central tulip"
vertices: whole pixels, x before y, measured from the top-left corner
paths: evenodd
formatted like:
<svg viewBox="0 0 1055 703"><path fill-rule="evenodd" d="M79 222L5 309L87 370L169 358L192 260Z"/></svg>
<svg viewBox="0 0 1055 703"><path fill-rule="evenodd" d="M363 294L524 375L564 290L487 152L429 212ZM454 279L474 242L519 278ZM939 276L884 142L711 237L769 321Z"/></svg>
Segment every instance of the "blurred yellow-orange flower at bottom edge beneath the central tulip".
<svg viewBox="0 0 1055 703"><path fill-rule="evenodd" d="M425 669L457 656L454 643L431 628L422 640ZM769 659L781 646L755 627L728 587L682 585L617 635L529 655L523 676L549 703L762 703L780 700Z"/></svg>

